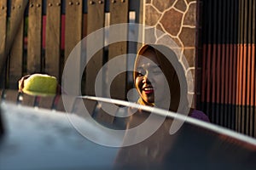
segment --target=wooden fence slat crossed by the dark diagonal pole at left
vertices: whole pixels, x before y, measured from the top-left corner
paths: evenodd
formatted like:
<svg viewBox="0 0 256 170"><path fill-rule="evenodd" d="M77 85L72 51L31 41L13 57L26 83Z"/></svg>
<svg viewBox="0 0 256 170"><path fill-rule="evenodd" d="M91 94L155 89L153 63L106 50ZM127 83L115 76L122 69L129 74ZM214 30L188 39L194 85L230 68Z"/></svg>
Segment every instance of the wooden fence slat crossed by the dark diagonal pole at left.
<svg viewBox="0 0 256 170"><path fill-rule="evenodd" d="M14 30L16 18L19 15L23 16L22 7L26 4L23 0L13 0L11 5L11 14L9 20L10 30ZM9 60L9 88L17 89L18 81L22 77L22 60L23 60L23 31L24 31L24 18L20 18L20 26L15 36L15 41L10 51Z"/></svg>

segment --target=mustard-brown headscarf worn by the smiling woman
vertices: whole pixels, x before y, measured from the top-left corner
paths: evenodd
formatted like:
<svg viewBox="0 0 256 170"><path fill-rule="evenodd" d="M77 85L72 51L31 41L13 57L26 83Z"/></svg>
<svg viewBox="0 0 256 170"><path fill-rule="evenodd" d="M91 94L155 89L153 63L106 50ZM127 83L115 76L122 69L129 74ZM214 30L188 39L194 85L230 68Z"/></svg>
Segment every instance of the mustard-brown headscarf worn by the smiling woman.
<svg viewBox="0 0 256 170"><path fill-rule="evenodd" d="M177 60L177 55L172 51L171 48L168 48L164 45L159 45L159 44L150 44L150 45L147 44L147 45L144 45L142 48L140 48L137 53L137 58L135 60L135 65L134 65L134 71L133 71L134 82L137 77L138 57L143 56L143 54L148 50L154 51L156 59L160 64L160 69L164 73L166 80L168 82L170 95L171 95L169 111L175 111L175 112L184 111L184 109L187 108L189 104L187 99L188 88L187 88L186 77L183 71L183 66ZM135 87L137 88L137 90L139 90L136 84L135 84ZM140 97L137 102L140 105L148 105L142 99L142 97Z"/></svg>

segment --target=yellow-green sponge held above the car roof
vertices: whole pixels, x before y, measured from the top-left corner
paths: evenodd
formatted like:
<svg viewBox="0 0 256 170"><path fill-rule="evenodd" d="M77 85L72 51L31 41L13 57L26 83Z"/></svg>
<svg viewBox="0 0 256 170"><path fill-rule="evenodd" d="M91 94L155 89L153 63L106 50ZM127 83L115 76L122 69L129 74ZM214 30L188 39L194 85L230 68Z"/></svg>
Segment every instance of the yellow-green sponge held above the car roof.
<svg viewBox="0 0 256 170"><path fill-rule="evenodd" d="M33 74L24 80L22 92L39 96L55 95L57 84L55 77L46 74Z"/></svg>

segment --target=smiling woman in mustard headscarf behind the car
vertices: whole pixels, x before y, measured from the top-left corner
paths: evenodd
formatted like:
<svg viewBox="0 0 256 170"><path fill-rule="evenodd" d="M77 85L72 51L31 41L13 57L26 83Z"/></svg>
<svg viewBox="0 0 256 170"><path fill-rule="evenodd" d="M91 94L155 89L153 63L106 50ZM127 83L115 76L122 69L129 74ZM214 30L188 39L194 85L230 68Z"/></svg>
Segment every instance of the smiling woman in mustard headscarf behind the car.
<svg viewBox="0 0 256 170"><path fill-rule="evenodd" d="M209 122L203 112L188 108L188 87L183 66L171 48L144 45L137 53L133 77L140 105L174 112L189 111L189 116Z"/></svg>

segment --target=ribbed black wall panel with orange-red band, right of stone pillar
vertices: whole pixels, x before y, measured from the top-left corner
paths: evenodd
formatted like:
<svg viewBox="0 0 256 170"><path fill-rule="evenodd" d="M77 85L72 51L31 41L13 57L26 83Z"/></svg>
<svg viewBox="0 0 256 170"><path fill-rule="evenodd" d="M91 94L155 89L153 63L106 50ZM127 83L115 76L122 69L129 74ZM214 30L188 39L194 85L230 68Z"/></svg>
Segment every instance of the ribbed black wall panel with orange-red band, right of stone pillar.
<svg viewBox="0 0 256 170"><path fill-rule="evenodd" d="M201 0L201 91L197 107L213 123L255 136L253 0Z"/></svg>

